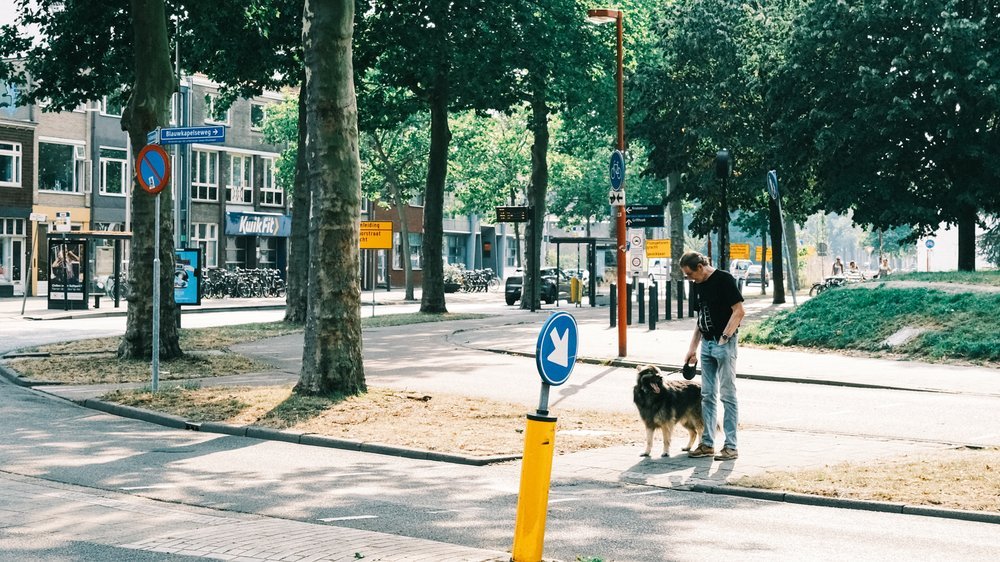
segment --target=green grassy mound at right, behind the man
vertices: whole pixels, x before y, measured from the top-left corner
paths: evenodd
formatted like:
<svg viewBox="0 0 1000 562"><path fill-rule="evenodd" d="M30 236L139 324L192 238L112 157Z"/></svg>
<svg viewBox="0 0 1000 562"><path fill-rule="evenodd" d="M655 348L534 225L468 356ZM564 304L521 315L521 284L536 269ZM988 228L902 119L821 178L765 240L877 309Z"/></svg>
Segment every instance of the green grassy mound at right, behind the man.
<svg viewBox="0 0 1000 562"><path fill-rule="evenodd" d="M879 351L904 327L924 328L894 351L918 358L1000 360L996 311L1000 293L933 289L831 289L796 310L751 325L744 339L759 344Z"/></svg>

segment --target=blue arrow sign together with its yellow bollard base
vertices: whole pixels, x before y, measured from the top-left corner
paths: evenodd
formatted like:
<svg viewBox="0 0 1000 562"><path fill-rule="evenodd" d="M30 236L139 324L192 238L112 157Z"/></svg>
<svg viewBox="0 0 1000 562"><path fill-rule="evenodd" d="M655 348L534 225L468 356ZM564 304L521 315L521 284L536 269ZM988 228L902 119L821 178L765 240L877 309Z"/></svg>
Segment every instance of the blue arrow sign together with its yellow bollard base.
<svg viewBox="0 0 1000 562"><path fill-rule="evenodd" d="M576 319L568 312L549 316L538 334L535 365L542 378L538 410L528 414L521 461L521 487L517 496L513 560L541 560L545 542L545 514L549 503L556 418L549 416L549 387L566 382L576 364Z"/></svg>

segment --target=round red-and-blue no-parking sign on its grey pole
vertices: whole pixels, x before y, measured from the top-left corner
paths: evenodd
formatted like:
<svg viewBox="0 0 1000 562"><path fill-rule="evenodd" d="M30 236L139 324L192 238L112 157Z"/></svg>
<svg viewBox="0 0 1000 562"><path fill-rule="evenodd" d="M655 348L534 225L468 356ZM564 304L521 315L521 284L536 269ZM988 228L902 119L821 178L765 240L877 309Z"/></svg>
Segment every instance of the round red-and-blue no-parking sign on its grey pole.
<svg viewBox="0 0 1000 562"><path fill-rule="evenodd" d="M153 382L156 392L160 384L160 198L159 194L170 184L170 157L158 144L147 144L136 156L135 172L139 187L153 196Z"/></svg>

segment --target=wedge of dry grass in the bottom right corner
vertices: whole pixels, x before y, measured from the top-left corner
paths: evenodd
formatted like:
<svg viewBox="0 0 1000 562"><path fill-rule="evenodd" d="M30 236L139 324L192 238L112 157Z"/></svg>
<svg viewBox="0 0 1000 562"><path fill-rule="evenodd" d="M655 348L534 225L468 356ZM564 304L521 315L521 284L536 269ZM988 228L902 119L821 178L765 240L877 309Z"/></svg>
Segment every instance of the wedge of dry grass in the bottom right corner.
<svg viewBox="0 0 1000 562"><path fill-rule="evenodd" d="M952 449L871 464L774 472L731 482L834 498L1000 512L1000 449Z"/></svg>

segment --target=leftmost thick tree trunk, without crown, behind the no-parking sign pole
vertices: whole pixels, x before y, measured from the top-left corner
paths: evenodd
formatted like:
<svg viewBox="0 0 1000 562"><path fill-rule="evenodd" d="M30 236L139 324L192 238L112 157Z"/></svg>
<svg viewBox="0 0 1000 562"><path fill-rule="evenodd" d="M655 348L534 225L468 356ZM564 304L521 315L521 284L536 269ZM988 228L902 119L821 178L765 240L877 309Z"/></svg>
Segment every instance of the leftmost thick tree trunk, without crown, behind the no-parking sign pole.
<svg viewBox="0 0 1000 562"><path fill-rule="evenodd" d="M132 0L132 30L135 49L135 85L122 113L122 130L128 131L133 150L146 146L146 133L167 124L170 96L177 79L170 65L167 18L163 0ZM135 164L135 163L133 163ZM133 169L137 169L134 166ZM174 303L173 191L168 184L159 195L150 196L132 180L132 244L129 250L128 316L125 335L118 346L121 359L153 356L153 246L155 204L160 198L160 358L183 355L178 341Z"/></svg>

